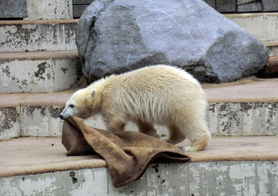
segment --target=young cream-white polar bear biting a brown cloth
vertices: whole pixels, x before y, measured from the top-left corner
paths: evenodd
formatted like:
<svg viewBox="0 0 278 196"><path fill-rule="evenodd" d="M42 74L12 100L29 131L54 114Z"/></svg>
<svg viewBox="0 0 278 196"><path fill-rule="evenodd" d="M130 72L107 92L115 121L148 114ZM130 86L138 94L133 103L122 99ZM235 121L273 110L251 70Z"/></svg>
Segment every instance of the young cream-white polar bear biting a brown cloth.
<svg viewBox="0 0 278 196"><path fill-rule="evenodd" d="M107 130L116 133L133 122L141 133L160 138L154 125L170 131L164 141L191 145L183 151L204 149L210 138L205 113L207 100L199 82L180 68L168 65L143 67L100 79L76 91L60 118L88 118L101 114Z"/></svg>

